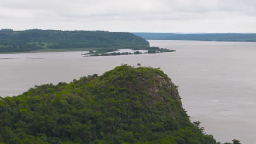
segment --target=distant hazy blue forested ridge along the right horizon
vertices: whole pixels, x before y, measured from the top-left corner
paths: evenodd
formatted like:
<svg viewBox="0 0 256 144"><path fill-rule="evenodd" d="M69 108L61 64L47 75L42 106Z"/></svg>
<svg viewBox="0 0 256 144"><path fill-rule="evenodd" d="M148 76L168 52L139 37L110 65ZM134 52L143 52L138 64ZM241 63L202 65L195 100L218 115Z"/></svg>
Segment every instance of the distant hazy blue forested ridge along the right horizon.
<svg viewBox="0 0 256 144"><path fill-rule="evenodd" d="M133 33L150 40L256 41L255 33Z"/></svg>

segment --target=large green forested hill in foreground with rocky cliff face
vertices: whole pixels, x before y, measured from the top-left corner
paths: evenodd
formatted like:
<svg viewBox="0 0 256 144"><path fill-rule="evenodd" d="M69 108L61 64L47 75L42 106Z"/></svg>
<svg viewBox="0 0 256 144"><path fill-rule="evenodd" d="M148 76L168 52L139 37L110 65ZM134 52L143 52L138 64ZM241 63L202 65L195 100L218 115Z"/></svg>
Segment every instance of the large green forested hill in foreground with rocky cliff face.
<svg viewBox="0 0 256 144"><path fill-rule="evenodd" d="M0 143L216 144L199 124L154 68L122 65L0 98Z"/></svg>

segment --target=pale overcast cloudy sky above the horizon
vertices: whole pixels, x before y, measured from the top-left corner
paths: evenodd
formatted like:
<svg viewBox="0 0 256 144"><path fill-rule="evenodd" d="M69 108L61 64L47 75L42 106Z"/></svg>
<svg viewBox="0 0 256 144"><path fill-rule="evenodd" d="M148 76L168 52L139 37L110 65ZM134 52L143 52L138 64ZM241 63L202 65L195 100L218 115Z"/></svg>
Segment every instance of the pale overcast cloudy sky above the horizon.
<svg viewBox="0 0 256 144"><path fill-rule="evenodd" d="M255 0L0 0L0 29L256 33Z"/></svg>

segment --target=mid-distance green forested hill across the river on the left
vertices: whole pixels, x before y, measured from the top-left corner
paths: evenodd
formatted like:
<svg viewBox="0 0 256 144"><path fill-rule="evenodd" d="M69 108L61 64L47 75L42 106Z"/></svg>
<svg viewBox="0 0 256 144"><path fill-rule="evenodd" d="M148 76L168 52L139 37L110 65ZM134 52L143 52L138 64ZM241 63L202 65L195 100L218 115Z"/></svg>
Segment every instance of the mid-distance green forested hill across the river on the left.
<svg viewBox="0 0 256 144"><path fill-rule="evenodd" d="M22 52L41 49L72 49L95 47L135 48L149 46L147 40L125 32L55 31L30 29L0 30L0 52Z"/></svg>

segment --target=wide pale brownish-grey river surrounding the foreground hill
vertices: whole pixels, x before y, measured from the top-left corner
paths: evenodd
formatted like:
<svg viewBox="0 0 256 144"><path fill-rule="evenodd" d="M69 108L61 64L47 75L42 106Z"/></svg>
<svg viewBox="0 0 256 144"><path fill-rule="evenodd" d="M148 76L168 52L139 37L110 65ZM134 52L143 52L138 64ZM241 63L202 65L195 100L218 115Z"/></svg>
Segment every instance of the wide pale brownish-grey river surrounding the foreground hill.
<svg viewBox="0 0 256 144"><path fill-rule="evenodd" d="M191 121L202 122L207 134L220 142L256 143L256 43L149 42L177 52L107 57L82 57L83 52L0 54L0 96L141 63L160 67L171 77Z"/></svg>

